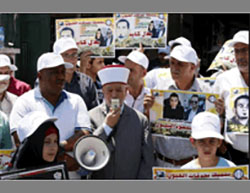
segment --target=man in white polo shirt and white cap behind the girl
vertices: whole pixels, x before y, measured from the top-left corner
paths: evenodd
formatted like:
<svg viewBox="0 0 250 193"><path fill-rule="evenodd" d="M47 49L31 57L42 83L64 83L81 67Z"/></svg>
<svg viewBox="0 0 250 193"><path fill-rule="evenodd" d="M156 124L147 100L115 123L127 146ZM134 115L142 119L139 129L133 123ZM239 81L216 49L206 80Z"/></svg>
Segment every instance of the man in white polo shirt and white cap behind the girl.
<svg viewBox="0 0 250 193"><path fill-rule="evenodd" d="M65 69L72 67L72 64L64 62L61 55L52 52L42 54L38 58L39 85L20 96L10 114L10 129L16 144L19 144L18 122L27 113L36 110L43 111L48 116L58 117L55 124L59 129L60 144L67 153L73 150L79 137L89 134L90 120L84 101L80 96L63 90ZM74 161L73 158L67 160L68 168L74 165Z"/></svg>

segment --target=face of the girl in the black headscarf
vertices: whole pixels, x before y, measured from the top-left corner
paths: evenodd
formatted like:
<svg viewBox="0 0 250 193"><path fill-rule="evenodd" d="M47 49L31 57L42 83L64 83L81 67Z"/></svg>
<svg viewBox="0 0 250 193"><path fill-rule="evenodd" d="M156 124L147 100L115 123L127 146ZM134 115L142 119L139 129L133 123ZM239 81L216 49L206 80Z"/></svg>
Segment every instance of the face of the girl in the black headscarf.
<svg viewBox="0 0 250 193"><path fill-rule="evenodd" d="M58 151L58 137L52 133L44 138L43 159L47 162L53 162Z"/></svg>

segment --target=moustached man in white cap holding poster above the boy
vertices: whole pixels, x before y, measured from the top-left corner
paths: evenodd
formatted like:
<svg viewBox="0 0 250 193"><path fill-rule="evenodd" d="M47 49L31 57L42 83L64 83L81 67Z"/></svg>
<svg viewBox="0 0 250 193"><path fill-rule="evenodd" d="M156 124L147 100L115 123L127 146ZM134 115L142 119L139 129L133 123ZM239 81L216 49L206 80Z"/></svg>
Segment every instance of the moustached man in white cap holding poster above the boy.
<svg viewBox="0 0 250 193"><path fill-rule="evenodd" d="M196 78L198 56L191 46L177 45L170 53L171 78L159 82L155 88L160 90L184 90L195 92L210 92L210 88ZM145 113L154 103L154 96L144 98ZM182 137L159 136L154 138L156 150L156 165L162 167L180 167L194 159L197 155L191 143Z"/></svg>

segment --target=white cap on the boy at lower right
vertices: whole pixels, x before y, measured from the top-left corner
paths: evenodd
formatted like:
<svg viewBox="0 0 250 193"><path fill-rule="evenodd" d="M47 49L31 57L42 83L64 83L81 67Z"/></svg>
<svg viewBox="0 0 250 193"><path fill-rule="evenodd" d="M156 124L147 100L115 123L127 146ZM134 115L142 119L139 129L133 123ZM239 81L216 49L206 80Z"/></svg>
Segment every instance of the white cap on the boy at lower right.
<svg viewBox="0 0 250 193"><path fill-rule="evenodd" d="M208 137L224 139L220 133L220 119L214 113L208 111L198 113L193 118L191 128L191 137L194 139Z"/></svg>

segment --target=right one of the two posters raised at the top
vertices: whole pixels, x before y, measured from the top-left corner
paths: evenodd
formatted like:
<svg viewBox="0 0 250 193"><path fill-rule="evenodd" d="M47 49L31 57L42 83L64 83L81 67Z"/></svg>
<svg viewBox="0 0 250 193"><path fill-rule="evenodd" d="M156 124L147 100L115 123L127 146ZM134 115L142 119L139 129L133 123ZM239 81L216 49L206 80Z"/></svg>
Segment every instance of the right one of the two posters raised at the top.
<svg viewBox="0 0 250 193"><path fill-rule="evenodd" d="M115 46L117 49L165 48L167 13L116 13Z"/></svg>

